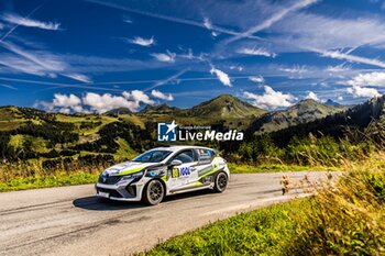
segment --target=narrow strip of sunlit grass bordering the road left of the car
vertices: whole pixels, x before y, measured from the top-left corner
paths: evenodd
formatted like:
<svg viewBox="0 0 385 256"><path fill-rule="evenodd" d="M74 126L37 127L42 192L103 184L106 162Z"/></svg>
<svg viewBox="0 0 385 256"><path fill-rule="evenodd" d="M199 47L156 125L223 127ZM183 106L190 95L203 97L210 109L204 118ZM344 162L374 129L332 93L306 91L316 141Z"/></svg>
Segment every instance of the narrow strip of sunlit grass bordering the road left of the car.
<svg viewBox="0 0 385 256"><path fill-rule="evenodd" d="M35 176L26 178L15 178L7 182L0 182L0 192L48 187L62 187L70 185L92 183L98 179L99 174L90 172L58 172L47 176Z"/></svg>

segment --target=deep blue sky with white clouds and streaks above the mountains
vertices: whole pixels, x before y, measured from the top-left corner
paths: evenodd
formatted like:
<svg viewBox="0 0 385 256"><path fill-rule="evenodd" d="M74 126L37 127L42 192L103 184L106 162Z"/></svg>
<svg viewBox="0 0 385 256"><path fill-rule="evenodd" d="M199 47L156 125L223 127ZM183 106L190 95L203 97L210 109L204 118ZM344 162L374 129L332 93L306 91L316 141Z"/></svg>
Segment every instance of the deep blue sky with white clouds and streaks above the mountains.
<svg viewBox="0 0 385 256"><path fill-rule="evenodd" d="M385 2L1 0L0 102L105 112L385 92Z"/></svg>

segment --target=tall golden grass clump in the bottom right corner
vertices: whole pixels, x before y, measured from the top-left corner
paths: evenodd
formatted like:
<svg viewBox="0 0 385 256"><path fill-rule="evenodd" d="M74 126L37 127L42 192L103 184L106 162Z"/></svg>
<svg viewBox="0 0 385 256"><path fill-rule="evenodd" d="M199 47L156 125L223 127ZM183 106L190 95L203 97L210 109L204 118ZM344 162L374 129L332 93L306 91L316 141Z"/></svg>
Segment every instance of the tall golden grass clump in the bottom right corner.
<svg viewBox="0 0 385 256"><path fill-rule="evenodd" d="M297 218L289 255L384 255L385 171L365 166L324 185Z"/></svg>

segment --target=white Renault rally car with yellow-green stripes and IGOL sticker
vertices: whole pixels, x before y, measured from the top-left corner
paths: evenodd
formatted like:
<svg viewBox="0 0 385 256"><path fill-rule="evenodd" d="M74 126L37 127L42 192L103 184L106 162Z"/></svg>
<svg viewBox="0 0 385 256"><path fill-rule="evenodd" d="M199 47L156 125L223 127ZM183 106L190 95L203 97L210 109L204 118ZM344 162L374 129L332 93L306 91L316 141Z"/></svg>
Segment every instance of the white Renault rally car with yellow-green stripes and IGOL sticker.
<svg viewBox="0 0 385 256"><path fill-rule="evenodd" d="M208 147L157 147L131 162L106 169L96 196L119 201L160 203L165 196L200 189L223 192L230 171L226 160Z"/></svg>

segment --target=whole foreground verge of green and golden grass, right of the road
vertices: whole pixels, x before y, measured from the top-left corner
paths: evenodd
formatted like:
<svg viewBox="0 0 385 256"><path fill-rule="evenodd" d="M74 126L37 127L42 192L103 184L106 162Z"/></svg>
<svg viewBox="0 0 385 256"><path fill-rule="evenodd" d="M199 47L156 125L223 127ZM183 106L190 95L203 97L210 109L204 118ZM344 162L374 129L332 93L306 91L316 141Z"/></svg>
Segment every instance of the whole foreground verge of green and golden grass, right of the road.
<svg viewBox="0 0 385 256"><path fill-rule="evenodd" d="M384 255L385 155L345 165L312 197L218 221L141 255Z"/></svg>

